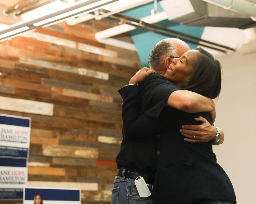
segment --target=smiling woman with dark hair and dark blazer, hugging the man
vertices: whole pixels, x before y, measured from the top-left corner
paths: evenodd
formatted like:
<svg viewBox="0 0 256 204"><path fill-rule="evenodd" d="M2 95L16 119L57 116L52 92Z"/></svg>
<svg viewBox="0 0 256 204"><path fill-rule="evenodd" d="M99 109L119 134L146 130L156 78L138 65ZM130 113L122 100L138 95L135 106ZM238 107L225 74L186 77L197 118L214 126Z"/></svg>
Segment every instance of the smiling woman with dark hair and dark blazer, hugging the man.
<svg viewBox="0 0 256 204"><path fill-rule="evenodd" d="M204 49L189 50L180 58L173 59L168 68L164 77L176 86L209 98L217 98L220 94L221 65ZM152 70L143 68L131 79L130 83L136 85L151 73ZM159 147L157 173L152 193L155 203L236 203L229 177L217 164L212 141L189 143L180 133L182 125L199 125L194 120L196 117L206 118L212 124L209 113L190 114L165 107L159 116L164 120L160 122L139 113L137 95L139 88L135 90L136 88L133 87L132 89L131 92L131 86L128 86L126 90L119 91L123 99L128 95L134 96L132 104L123 104L124 135L130 138L158 135L156 138ZM157 105L152 104L153 106Z"/></svg>

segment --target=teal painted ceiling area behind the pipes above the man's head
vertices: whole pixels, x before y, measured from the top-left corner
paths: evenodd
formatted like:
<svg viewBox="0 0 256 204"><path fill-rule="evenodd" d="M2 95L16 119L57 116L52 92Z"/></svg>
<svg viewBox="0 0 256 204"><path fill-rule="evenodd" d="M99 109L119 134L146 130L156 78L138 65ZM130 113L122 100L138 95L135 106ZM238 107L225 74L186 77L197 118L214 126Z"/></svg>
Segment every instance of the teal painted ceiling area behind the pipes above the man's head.
<svg viewBox="0 0 256 204"><path fill-rule="evenodd" d="M147 5L140 6L123 12L123 14L139 19L145 16L149 16L151 14L150 11L153 8L154 3L152 2ZM157 8L159 11L163 11L159 2L157 2ZM190 34L198 38L201 38L202 33L204 31L204 27L180 25L177 22L169 21L167 19L156 24L171 30L179 31L185 34ZM147 67L149 55L151 53L151 50L154 48L155 44L160 40L168 38L167 36L148 32L141 29L132 30L130 31L130 34L133 39L134 45L138 50L138 56L142 62L142 65ZM194 45L192 43L188 43L188 45L190 46L191 49L195 49L197 47L197 45Z"/></svg>

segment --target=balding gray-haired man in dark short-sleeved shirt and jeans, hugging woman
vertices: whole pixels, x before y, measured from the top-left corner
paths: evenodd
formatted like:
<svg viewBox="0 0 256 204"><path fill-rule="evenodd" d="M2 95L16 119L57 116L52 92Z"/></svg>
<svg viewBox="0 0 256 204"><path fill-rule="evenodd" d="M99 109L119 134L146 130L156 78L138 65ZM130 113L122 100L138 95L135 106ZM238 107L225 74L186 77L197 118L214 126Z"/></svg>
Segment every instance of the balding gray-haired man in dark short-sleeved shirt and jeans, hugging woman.
<svg viewBox="0 0 256 204"><path fill-rule="evenodd" d="M152 50L149 59L151 69L158 74L151 74L143 81L143 85L140 84L139 86L136 85L136 76L134 76L135 78L133 77L130 80L129 85L118 90L122 95L123 104L129 103L132 105L134 97L138 97L137 94L139 94L141 113L157 118L160 121L159 115L162 109L152 108L152 102L157 101L161 103L160 106L165 106L166 104L171 106L169 101L176 101L179 106L174 108L188 113L211 111L214 120L215 105L211 99L188 90L182 90L180 87L169 82L163 84L166 82L163 75L166 73L172 59L180 57L188 50L190 50L189 46L176 38L167 38L158 42ZM159 90L161 90L161 93L164 92L164 95L168 96L168 98L161 98ZM187 137L186 141L208 142L216 138L216 128L212 127L206 119L198 117L195 120L202 122L202 125L197 127L193 125L183 126L181 130L182 134ZM196 139L194 135L196 135ZM221 137L219 141L215 140L214 144L217 145L223 142L223 132ZM146 198L139 196L135 186L135 179L143 177L149 190L153 189L156 166L160 155L160 152L157 151L156 142L159 138L160 135L147 138L127 138L123 134L121 150L116 158L118 171L114 179L114 189L111 196L112 204L153 203L151 196Z"/></svg>

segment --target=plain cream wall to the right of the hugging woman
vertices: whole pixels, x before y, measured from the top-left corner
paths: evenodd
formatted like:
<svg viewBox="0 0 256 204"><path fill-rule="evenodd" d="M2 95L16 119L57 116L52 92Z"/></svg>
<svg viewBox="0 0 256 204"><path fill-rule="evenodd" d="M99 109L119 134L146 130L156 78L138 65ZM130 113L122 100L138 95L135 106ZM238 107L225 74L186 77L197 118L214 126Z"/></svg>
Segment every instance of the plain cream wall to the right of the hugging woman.
<svg viewBox="0 0 256 204"><path fill-rule="evenodd" d="M256 53L216 56L223 70L215 125L225 133L214 147L217 162L233 183L238 204L256 203Z"/></svg>

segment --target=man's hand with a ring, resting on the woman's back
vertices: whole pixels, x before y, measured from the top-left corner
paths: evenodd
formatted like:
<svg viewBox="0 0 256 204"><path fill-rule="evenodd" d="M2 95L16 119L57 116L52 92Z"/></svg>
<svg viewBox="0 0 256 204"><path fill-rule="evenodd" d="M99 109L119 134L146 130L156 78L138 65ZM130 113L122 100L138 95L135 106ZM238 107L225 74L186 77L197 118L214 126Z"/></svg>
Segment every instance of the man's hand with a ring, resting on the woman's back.
<svg viewBox="0 0 256 204"><path fill-rule="evenodd" d="M209 142L216 137L217 129L212 126L205 118L198 116L196 121L200 121L201 125L184 125L180 129L181 134L187 142ZM194 137L195 136L195 137Z"/></svg>

